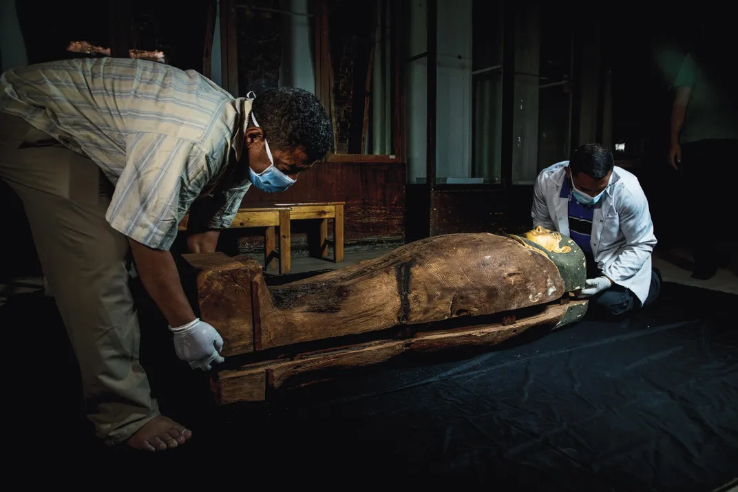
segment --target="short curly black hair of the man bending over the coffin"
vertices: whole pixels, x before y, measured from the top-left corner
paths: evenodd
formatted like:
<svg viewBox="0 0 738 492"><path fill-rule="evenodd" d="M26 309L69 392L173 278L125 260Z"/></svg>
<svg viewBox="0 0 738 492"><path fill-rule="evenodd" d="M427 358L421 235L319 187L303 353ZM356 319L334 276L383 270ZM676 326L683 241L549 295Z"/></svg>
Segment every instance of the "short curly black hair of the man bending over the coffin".
<svg viewBox="0 0 738 492"><path fill-rule="evenodd" d="M317 97L297 87L279 87L259 94L251 106L272 148L301 147L308 162L323 159L333 147L333 128Z"/></svg>

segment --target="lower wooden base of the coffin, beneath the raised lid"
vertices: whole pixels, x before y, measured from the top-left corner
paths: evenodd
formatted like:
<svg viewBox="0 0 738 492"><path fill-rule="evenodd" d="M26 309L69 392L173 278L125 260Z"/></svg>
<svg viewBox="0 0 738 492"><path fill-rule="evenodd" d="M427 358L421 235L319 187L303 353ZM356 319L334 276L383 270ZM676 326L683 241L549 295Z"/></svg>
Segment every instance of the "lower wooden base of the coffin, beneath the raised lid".
<svg viewBox="0 0 738 492"><path fill-rule="evenodd" d="M303 382L303 385L311 383L310 375L319 376L320 380L325 381L329 375L331 377L344 375L345 370L381 364L404 353L434 353L454 347L500 344L534 327L554 328L568 313L570 306L581 308L586 304L586 300L576 300L570 305L554 303L548 305L542 313L520 319L514 325L494 323L453 330L429 331L418 333L412 339L354 344L303 353L288 360L258 362L247 364L237 370L223 370L218 373L218 401L221 404L244 401L244 398L249 398L247 401L254 401L254 395L261 395L264 381L269 389L275 390L288 387L291 381L300 376L303 381L308 379L307 382ZM569 322L575 322L583 314L584 310L580 309L576 316L570 316Z"/></svg>

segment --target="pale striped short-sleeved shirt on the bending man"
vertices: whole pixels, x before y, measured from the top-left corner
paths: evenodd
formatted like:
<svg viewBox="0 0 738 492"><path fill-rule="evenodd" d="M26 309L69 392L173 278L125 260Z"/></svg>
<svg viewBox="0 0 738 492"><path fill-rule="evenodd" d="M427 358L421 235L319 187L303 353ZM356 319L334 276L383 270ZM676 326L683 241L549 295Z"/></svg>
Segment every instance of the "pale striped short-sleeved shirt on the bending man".
<svg viewBox="0 0 738 492"><path fill-rule="evenodd" d="M251 186L234 172L250 108L197 72L148 60L63 60L0 78L0 111L92 159L115 186L108 223L155 249L170 248L199 197L218 200L210 227L230 226Z"/></svg>

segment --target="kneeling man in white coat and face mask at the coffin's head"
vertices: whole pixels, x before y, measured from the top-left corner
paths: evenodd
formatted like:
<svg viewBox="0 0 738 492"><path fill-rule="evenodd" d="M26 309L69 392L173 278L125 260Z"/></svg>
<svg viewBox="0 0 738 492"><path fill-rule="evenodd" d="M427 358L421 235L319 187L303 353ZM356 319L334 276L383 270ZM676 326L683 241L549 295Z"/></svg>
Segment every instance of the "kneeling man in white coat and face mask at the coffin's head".
<svg viewBox="0 0 738 492"><path fill-rule="evenodd" d="M589 297L596 311L620 315L649 305L661 290L651 266L656 244L648 200L609 149L582 145L570 161L542 170L536 180L533 226L574 240L587 257Z"/></svg>

